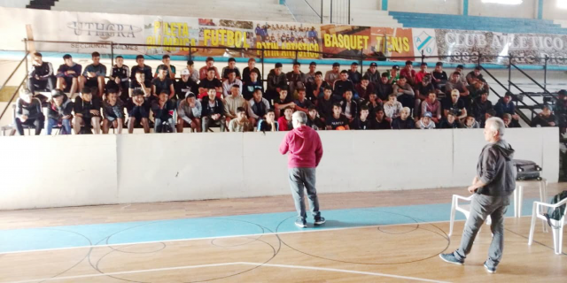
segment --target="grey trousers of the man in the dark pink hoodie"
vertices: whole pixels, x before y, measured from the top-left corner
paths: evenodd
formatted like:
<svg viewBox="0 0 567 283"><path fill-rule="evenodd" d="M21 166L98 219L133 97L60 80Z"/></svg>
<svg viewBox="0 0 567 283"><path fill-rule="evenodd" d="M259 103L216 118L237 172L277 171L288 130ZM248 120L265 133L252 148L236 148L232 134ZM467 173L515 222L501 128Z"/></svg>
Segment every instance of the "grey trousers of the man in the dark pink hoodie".
<svg viewBox="0 0 567 283"><path fill-rule="evenodd" d="M291 196L293 196L295 210L298 211L298 218L303 220L307 218L303 199L304 187L307 189L311 215L313 218L319 218L321 212L319 212L319 200L315 190L315 168L289 168L288 172L290 173Z"/></svg>

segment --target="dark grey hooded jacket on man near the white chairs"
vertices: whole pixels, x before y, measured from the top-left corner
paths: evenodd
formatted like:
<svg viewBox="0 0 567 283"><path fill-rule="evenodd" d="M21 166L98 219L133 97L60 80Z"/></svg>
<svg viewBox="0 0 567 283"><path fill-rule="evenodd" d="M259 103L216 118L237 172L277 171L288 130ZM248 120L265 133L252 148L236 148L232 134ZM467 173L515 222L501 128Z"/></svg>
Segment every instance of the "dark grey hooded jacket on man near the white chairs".
<svg viewBox="0 0 567 283"><path fill-rule="evenodd" d="M485 145L478 157L477 175L485 183L477 194L492 196L507 196L516 188L514 173L514 149L508 142L501 140Z"/></svg>

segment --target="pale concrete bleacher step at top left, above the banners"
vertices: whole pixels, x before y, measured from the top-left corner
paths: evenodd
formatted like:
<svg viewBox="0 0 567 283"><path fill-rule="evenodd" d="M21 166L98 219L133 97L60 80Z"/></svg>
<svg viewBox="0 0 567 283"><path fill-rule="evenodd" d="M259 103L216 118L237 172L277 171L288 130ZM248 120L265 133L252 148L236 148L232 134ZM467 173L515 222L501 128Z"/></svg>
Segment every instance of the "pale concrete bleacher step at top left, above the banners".
<svg viewBox="0 0 567 283"><path fill-rule="evenodd" d="M60 0L51 10L97 11L121 14L183 16L212 19L294 21L291 12L277 0Z"/></svg>

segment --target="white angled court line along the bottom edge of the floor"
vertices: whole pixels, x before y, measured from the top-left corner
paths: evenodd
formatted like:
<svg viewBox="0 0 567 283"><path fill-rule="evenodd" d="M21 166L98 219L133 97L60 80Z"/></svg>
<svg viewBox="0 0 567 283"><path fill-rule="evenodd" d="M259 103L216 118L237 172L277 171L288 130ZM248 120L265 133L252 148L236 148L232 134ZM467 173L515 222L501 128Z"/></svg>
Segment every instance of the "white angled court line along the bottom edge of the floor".
<svg viewBox="0 0 567 283"><path fill-rule="evenodd" d="M178 271L178 270L185 270L185 269L197 269L197 268L218 267L218 266L228 266L228 265L268 266L268 267L278 267L278 268L312 270L312 271L320 271L320 272L340 272L340 273L361 274L361 275L370 275L370 276L377 276L377 277L387 277L387 278L393 278L393 279L406 279L406 280L413 280L413 281L420 281L420 282L439 282L439 283L447 282L447 281L439 281L439 280L432 280L432 279L421 279L421 278L417 278L417 277L401 276L401 275L386 274L386 273L379 273L379 272L357 272L357 271L351 271L351 270L345 270L345 269L315 267L315 266L236 262L236 263L222 263L222 264L185 265L185 266L176 266L176 267L136 270L136 271L128 271L128 272L95 273L95 274L85 274L85 275L66 276L66 277L58 277L58 278L47 278L47 279L28 279L28 280L21 280L21 281L12 281L11 283L31 283L31 282L38 282L38 281L58 281L58 280L67 280L67 279L85 279L85 278L97 278L97 277L103 277L103 276L136 274L136 273L143 273L143 272L169 272L169 271Z"/></svg>

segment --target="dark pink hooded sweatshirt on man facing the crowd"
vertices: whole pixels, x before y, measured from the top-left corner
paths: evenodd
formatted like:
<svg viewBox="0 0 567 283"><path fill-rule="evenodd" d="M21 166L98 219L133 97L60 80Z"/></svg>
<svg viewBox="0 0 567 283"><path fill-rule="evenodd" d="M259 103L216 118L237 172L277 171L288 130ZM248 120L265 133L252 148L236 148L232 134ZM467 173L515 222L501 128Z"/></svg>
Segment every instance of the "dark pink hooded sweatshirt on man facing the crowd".
<svg viewBox="0 0 567 283"><path fill-rule="evenodd" d="M315 168L322 157L319 134L309 126L294 128L283 138L280 152L288 155L288 168Z"/></svg>

